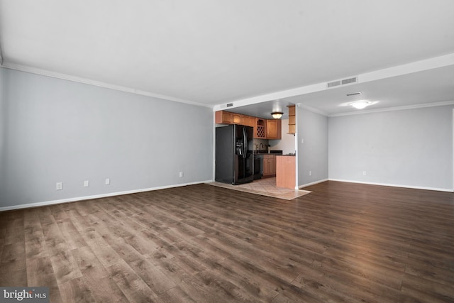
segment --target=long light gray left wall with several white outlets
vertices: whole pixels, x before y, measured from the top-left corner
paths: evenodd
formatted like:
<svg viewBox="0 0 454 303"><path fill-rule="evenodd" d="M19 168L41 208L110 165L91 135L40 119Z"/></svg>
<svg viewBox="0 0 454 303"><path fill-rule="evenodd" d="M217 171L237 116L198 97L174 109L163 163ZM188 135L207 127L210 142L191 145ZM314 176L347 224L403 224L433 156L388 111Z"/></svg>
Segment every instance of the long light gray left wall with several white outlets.
<svg viewBox="0 0 454 303"><path fill-rule="evenodd" d="M207 107L14 70L0 75L0 207L212 180Z"/></svg>

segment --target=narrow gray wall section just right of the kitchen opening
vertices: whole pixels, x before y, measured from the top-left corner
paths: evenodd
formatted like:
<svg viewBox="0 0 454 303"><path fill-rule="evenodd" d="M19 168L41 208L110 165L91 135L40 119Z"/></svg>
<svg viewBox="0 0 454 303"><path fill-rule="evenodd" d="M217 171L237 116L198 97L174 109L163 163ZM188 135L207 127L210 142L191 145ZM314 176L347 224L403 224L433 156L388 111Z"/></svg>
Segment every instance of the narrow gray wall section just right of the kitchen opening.
<svg viewBox="0 0 454 303"><path fill-rule="evenodd" d="M297 106L297 137L298 186L327 180L328 117Z"/></svg>

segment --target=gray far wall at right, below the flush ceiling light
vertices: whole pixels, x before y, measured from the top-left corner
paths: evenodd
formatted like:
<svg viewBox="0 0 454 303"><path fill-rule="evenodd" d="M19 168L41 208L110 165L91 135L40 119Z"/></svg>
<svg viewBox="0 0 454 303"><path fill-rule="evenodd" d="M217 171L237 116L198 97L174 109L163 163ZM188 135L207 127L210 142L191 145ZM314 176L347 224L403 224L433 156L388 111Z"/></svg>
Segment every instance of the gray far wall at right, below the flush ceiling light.
<svg viewBox="0 0 454 303"><path fill-rule="evenodd" d="M452 119L453 106L331 117L329 178L453 189Z"/></svg>

